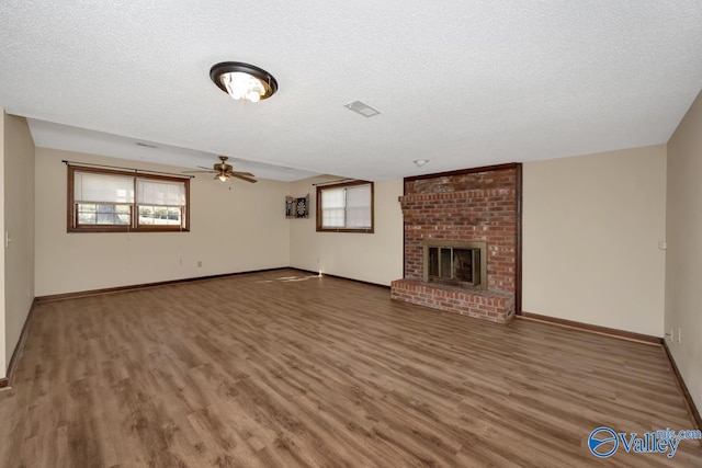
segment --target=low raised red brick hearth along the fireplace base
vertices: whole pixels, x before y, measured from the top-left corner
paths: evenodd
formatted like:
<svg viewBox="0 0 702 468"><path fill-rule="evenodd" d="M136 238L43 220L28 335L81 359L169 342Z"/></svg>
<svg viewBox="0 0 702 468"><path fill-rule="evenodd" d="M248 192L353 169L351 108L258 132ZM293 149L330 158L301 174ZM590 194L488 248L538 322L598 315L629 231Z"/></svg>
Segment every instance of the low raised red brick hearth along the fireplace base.
<svg viewBox="0 0 702 468"><path fill-rule="evenodd" d="M497 323L514 317L514 294L466 289L417 279L396 279L390 298Z"/></svg>

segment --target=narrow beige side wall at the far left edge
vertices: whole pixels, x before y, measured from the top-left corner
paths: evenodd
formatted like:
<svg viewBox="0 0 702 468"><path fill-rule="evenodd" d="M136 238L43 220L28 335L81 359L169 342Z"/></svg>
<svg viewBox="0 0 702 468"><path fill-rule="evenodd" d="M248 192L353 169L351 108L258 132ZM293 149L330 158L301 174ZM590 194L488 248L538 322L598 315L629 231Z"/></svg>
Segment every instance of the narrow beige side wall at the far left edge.
<svg viewBox="0 0 702 468"><path fill-rule="evenodd" d="M34 300L34 140L23 117L4 116L5 366Z"/></svg>

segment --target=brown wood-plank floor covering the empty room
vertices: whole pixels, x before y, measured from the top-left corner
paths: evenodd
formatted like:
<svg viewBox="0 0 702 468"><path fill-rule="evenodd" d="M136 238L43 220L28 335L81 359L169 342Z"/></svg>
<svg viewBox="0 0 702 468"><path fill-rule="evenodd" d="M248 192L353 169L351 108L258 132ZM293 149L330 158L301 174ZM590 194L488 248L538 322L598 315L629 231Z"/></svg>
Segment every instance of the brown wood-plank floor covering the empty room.
<svg viewBox="0 0 702 468"><path fill-rule="evenodd" d="M697 441L670 459L588 449L598 426L694 429L659 346L303 276L36 306L0 392L0 465L702 466Z"/></svg>

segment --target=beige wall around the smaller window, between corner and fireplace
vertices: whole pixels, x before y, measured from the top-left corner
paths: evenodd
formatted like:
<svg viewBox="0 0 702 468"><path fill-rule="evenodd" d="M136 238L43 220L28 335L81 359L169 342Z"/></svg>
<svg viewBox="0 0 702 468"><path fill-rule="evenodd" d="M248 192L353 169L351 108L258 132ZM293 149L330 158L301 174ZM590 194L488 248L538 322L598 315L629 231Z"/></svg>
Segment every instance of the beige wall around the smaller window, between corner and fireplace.
<svg viewBox="0 0 702 468"><path fill-rule="evenodd" d="M316 232L314 183L329 178L308 179L291 184L291 196L309 193L309 219L290 219L291 266L322 271L337 276L389 286L403 277L403 212L397 199L403 181L375 183L375 232Z"/></svg>

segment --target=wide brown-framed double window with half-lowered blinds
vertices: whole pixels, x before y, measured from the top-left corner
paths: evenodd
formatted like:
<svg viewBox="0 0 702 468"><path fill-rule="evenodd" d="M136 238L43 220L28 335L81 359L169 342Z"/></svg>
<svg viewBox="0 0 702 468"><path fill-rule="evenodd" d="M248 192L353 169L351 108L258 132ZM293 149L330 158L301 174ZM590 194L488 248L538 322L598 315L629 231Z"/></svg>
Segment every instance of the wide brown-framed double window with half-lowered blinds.
<svg viewBox="0 0 702 468"><path fill-rule="evenodd" d="M190 179L68 167L68 231L186 231Z"/></svg>

